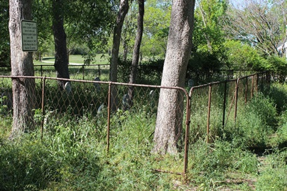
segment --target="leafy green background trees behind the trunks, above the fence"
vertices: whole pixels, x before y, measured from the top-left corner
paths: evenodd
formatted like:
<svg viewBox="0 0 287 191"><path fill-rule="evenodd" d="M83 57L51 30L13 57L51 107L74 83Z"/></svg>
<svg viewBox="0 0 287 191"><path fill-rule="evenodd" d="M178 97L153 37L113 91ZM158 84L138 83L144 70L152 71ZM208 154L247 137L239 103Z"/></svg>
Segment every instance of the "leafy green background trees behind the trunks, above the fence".
<svg viewBox="0 0 287 191"><path fill-rule="evenodd" d="M86 55L87 63L92 62L94 54L111 50L109 37L119 3L109 2L109 6L104 5L106 1L94 2L94 8L92 1L63 3L67 51L81 50L78 52ZM277 47L286 42L286 1L244 0L240 6L218 0L196 3L193 57L197 63L210 65L206 62L213 59L211 68L278 70L274 57L279 54ZM130 4L121 35L120 55L124 60L132 52L137 27L137 2ZM33 20L38 21L36 55L41 57L53 44L51 2L33 1L32 6ZM172 1L167 0L145 2L141 58L165 57L171 6ZM8 2L2 0L0 8L0 62L1 66L9 66ZM52 48L49 52L54 51Z"/></svg>

